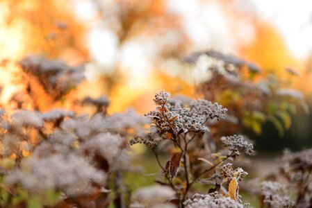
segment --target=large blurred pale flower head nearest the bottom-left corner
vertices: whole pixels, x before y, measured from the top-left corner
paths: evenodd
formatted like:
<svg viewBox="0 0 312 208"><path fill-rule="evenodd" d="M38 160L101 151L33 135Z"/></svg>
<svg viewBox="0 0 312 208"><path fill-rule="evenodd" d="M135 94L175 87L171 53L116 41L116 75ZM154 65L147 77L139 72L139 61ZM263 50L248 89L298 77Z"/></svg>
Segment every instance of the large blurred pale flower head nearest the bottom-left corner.
<svg viewBox="0 0 312 208"><path fill-rule="evenodd" d="M105 174L76 154L28 157L22 168L7 175L6 184L21 184L31 193L63 191L67 196L92 194L104 185Z"/></svg>

